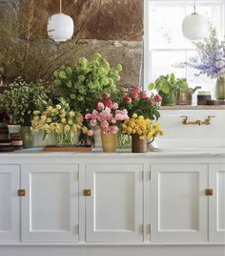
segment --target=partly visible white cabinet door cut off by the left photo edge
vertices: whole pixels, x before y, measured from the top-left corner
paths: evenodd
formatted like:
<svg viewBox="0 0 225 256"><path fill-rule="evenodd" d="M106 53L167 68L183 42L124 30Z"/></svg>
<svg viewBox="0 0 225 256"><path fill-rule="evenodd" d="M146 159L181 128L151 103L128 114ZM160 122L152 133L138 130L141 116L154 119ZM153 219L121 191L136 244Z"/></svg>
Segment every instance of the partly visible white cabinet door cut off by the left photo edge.
<svg viewBox="0 0 225 256"><path fill-rule="evenodd" d="M20 240L19 165L0 165L0 241Z"/></svg>

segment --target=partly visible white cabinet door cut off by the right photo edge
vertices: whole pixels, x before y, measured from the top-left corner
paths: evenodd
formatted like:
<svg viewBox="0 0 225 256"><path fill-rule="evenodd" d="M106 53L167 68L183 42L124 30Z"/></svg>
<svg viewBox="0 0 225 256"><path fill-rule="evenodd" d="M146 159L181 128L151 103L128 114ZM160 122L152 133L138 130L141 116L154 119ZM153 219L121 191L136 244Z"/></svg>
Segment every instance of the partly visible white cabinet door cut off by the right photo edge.
<svg viewBox="0 0 225 256"><path fill-rule="evenodd" d="M210 241L225 241L225 164L212 164L209 171Z"/></svg>

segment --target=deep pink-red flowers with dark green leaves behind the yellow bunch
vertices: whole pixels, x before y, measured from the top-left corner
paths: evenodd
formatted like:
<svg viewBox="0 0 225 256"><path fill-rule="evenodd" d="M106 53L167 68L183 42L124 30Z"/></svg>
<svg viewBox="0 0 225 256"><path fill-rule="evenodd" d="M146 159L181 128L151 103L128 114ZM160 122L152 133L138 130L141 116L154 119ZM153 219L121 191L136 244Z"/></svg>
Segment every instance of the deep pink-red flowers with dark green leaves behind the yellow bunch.
<svg viewBox="0 0 225 256"><path fill-rule="evenodd" d="M162 100L161 96L153 94L149 96L139 85L133 85L131 89L121 88L114 98L119 102L120 107L128 110L129 117L132 117L134 113L151 119L160 117L158 110Z"/></svg>

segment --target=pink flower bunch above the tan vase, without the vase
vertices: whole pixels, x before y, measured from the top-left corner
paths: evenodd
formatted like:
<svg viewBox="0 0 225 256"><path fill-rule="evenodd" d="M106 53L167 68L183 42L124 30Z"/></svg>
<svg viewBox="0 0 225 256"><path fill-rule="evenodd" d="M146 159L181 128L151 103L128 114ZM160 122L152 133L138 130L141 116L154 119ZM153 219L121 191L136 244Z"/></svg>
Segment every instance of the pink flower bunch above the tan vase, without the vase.
<svg viewBox="0 0 225 256"><path fill-rule="evenodd" d="M102 134L117 134L122 121L129 118L127 109L120 110L118 104L113 102L109 94L104 94L103 102L96 101L95 109L92 113L85 115L90 120L91 129L88 135L92 136Z"/></svg>

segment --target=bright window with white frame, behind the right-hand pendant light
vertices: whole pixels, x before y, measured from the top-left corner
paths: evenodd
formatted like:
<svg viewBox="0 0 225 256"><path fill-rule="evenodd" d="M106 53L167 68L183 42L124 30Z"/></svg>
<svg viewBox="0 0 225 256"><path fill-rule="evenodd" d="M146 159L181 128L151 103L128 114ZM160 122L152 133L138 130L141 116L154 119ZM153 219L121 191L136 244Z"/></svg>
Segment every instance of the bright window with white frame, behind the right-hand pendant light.
<svg viewBox="0 0 225 256"><path fill-rule="evenodd" d="M205 15L216 28L221 39L224 31L225 0L197 0L196 12ZM195 76L189 67L177 63L188 61L196 54L191 41L182 34L182 21L193 12L193 0L145 0L145 65L144 84L148 85L159 75L174 73L187 78L191 87L200 85L214 92L215 80L206 75Z"/></svg>

